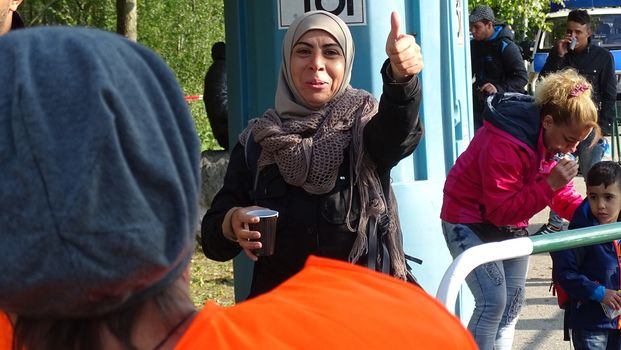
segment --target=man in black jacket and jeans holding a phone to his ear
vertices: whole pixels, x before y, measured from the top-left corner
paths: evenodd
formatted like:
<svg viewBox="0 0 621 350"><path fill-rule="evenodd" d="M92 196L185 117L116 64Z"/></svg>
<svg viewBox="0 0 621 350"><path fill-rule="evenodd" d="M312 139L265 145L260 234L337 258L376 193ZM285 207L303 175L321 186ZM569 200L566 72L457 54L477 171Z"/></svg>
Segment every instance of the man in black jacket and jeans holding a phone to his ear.
<svg viewBox="0 0 621 350"><path fill-rule="evenodd" d="M615 98L617 96L617 80L615 79L615 63L612 54L591 43L591 17L586 10L573 10L567 16L567 29L564 38L552 48L540 77L565 68L574 68L593 86L593 101L597 107L597 118L602 135L612 134L612 123L615 115ZM572 38L576 38L575 48L571 50ZM606 140L601 137L593 141L594 134L578 145L576 154L580 172L588 174L593 164L602 160ZM563 220L553 211L550 212L548 223L537 233L557 232L563 228Z"/></svg>

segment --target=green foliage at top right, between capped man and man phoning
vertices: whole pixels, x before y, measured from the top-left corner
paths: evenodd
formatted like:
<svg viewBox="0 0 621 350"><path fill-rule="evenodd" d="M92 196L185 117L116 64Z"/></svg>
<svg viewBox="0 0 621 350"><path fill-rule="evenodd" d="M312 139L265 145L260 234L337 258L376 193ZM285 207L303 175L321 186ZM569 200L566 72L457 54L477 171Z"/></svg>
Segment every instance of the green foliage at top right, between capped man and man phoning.
<svg viewBox="0 0 621 350"><path fill-rule="evenodd" d="M562 0L474 0L468 4L468 12L479 4L494 10L496 18L511 25L515 41L534 39L537 31L545 27L545 16L550 11L550 2L561 4ZM546 28L549 29L549 28Z"/></svg>

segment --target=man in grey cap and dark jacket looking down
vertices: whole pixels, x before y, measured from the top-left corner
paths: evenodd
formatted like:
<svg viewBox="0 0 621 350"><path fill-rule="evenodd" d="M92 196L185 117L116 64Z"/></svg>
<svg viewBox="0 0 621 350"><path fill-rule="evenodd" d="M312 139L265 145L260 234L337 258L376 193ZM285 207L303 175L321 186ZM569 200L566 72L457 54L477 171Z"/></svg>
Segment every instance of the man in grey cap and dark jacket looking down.
<svg viewBox="0 0 621 350"><path fill-rule="evenodd" d="M489 6L477 5L469 20L476 130L483 126L486 98L495 93L524 93L528 76L520 48L513 42L513 32L504 24L495 24L494 11Z"/></svg>

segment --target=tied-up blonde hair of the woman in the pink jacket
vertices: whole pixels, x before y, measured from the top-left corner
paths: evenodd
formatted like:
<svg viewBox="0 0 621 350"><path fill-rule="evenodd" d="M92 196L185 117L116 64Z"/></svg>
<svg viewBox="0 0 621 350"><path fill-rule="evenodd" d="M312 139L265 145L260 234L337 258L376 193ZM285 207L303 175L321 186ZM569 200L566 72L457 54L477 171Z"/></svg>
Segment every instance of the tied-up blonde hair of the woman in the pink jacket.
<svg viewBox="0 0 621 350"><path fill-rule="evenodd" d="M541 115L550 115L556 125L584 125L601 135L597 125L597 108L591 98L593 87L574 69L546 76L535 92L535 104Z"/></svg>

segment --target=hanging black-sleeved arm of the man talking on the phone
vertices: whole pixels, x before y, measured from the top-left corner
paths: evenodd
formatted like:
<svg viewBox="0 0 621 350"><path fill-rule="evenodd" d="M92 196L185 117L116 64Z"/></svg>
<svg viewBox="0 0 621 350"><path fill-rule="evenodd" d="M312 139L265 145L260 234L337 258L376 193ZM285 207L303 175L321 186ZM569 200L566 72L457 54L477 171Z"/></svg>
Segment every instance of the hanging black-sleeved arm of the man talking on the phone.
<svg viewBox="0 0 621 350"><path fill-rule="evenodd" d="M599 91L601 91L601 110L599 122L604 135L612 135L612 123L615 121L615 103L617 99L617 79L615 77L615 62L612 54L607 52L607 60L601 71Z"/></svg>

